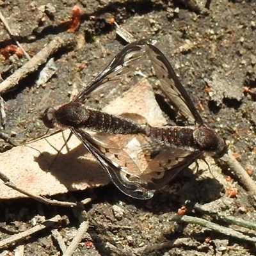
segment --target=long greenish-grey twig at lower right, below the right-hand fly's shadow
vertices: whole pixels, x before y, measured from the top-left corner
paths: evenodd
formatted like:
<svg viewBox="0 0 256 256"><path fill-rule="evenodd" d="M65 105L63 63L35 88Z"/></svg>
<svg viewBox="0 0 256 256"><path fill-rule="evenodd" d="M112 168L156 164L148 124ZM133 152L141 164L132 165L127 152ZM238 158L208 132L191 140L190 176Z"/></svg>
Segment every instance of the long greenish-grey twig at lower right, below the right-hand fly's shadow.
<svg viewBox="0 0 256 256"><path fill-rule="evenodd" d="M177 221L177 222L182 221L186 223L193 223L196 225L200 225L201 227L209 228L210 230L221 233L225 236L231 236L231 237L235 237L236 239L242 239L244 241L256 243L256 237L246 236L241 232L233 230L232 228L223 227L216 223L212 223L210 221L207 221L201 218L184 215L184 216L174 216L170 221Z"/></svg>

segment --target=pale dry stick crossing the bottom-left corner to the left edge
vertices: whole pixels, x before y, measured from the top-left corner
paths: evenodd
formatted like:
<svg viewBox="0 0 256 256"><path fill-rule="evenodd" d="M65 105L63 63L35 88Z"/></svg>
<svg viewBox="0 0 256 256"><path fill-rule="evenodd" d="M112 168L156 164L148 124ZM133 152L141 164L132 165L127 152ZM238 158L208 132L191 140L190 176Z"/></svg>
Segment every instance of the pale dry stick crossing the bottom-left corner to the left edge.
<svg viewBox="0 0 256 256"><path fill-rule="evenodd" d="M19 241L20 239L24 239L27 236L31 236L35 232L38 232L39 230L42 230L46 227L50 227L50 226L54 225L55 223L57 223L58 221L61 221L60 215L56 215L53 218L44 221L42 224L39 224L33 228L30 228L29 230L26 230L19 234L12 235L11 237L8 237L7 239L0 241L0 248L3 248L4 246L6 246L8 244L15 243L15 242Z"/></svg>

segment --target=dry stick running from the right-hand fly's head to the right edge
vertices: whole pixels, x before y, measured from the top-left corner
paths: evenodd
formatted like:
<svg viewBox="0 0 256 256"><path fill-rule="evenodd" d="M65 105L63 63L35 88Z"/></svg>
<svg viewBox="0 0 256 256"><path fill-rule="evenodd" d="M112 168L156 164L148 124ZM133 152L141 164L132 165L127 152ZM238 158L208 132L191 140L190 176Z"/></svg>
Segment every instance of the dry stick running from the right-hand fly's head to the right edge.
<svg viewBox="0 0 256 256"><path fill-rule="evenodd" d="M233 156L233 152L231 150L228 150L228 153L225 154L221 158L221 160L225 161L225 163L228 164L229 168L232 170L232 172L235 173L236 177L239 179L239 182L241 182L246 190L252 193L253 198L256 199L256 184L248 175L246 170L244 170L241 164L237 162L236 158Z"/></svg>

